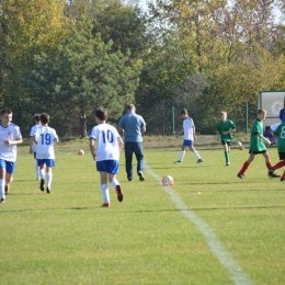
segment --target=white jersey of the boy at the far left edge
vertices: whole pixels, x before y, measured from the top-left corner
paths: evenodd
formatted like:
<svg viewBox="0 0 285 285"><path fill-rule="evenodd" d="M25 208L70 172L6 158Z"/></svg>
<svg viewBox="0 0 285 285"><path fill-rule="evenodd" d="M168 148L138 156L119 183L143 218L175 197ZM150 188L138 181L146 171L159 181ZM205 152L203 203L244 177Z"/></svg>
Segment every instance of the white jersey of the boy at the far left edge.
<svg viewBox="0 0 285 285"><path fill-rule="evenodd" d="M0 159L15 162L16 159L16 146L7 146L4 140L20 140L22 139L22 135L20 132L20 127L10 123L7 127L3 127L0 124Z"/></svg>

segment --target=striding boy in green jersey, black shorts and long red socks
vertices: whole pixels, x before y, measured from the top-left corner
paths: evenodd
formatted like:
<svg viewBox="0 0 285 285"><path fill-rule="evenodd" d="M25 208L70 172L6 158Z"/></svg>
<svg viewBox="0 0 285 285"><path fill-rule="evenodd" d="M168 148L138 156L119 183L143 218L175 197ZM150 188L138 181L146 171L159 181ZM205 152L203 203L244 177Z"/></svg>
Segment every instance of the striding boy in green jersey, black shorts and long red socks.
<svg viewBox="0 0 285 285"><path fill-rule="evenodd" d="M272 168L270 155L266 150L264 141L266 144L271 144L270 139L263 136L263 119L266 117L266 110L260 109L258 111L258 118L253 123L251 135L250 135L250 150L249 150L249 159L243 163L241 170L238 173L238 178L244 179L244 172L249 168L250 163L254 160L256 155L262 155L265 159L266 168L270 170ZM272 178L277 178L274 173L271 174Z"/></svg>

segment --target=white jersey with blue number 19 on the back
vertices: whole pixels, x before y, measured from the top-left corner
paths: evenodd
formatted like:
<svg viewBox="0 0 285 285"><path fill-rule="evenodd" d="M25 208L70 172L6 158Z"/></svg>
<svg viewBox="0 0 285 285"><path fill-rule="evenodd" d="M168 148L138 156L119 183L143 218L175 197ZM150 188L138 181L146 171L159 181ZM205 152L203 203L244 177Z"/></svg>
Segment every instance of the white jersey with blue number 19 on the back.
<svg viewBox="0 0 285 285"><path fill-rule="evenodd" d="M55 159L54 140L58 139L56 130L48 126L38 126L35 137L37 139L36 159Z"/></svg>

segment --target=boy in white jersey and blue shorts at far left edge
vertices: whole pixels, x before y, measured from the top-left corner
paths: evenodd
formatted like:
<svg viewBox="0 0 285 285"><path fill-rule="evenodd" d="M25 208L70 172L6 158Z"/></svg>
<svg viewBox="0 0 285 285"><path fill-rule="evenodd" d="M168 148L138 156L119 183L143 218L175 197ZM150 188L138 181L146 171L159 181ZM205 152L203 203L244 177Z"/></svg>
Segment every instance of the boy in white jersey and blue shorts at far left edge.
<svg viewBox="0 0 285 285"><path fill-rule="evenodd" d="M1 111L0 124L0 203L5 202L9 183L13 181L16 160L16 145L23 142L20 127L12 122L12 110Z"/></svg>

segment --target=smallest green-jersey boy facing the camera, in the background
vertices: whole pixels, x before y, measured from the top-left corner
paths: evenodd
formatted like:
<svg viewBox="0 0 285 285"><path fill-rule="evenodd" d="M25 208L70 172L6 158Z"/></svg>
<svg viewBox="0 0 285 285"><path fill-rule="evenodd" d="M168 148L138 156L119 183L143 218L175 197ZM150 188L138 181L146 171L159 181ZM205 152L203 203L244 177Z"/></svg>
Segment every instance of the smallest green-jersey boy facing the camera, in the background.
<svg viewBox="0 0 285 285"><path fill-rule="evenodd" d="M217 123L217 140L220 139L224 146L224 152L226 158L226 166L230 164L230 146L232 140L232 133L236 132L236 125L232 121L227 118L227 112L220 113L220 121Z"/></svg>

